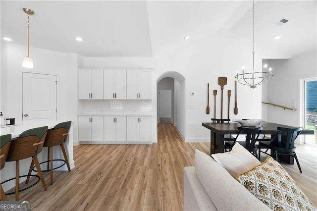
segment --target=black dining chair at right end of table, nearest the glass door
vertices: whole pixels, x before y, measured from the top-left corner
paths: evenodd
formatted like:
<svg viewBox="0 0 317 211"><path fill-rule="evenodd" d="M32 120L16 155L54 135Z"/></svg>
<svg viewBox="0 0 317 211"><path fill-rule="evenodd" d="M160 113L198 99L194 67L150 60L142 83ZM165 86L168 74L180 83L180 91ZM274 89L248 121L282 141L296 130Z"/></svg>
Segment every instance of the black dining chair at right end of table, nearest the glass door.
<svg viewBox="0 0 317 211"><path fill-rule="evenodd" d="M278 133L275 135L272 142L259 142L259 154L261 153L261 149L266 149L264 152L267 154L268 150L272 150L274 152L275 159L278 161L278 155L291 156L295 158L299 171L302 173L301 166L299 164L297 155L296 155L296 147L295 140L301 134L302 127L298 128L285 128L285 127L277 127ZM285 134L285 140L278 141L278 136L280 134ZM267 154L268 155L268 154Z"/></svg>

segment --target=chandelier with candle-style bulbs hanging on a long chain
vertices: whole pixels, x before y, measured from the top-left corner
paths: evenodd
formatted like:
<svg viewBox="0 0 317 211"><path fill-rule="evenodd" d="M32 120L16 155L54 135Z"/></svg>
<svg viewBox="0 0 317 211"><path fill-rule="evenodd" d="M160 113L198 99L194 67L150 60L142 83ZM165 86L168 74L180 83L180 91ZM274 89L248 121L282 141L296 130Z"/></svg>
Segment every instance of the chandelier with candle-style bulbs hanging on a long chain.
<svg viewBox="0 0 317 211"><path fill-rule="evenodd" d="M240 84L250 86L252 89L256 88L258 85L264 84L269 81L271 76L274 75L272 68L267 69L267 64L264 64L264 71L256 72L254 70L254 14L255 14L255 3L253 0L253 13L252 13L252 72L244 72L244 67L242 67L242 73L237 71L237 75L234 76Z"/></svg>

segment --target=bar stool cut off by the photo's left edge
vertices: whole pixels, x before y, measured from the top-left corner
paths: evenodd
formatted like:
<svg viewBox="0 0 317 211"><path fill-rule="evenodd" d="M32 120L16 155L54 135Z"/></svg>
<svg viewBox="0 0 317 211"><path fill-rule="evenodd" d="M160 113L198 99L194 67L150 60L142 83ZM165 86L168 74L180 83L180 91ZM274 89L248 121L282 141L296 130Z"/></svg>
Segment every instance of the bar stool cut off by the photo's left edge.
<svg viewBox="0 0 317 211"><path fill-rule="evenodd" d="M0 136L0 170L4 167L6 157L9 152L10 144L11 144L11 134ZM0 184L0 200L6 201L6 197Z"/></svg>

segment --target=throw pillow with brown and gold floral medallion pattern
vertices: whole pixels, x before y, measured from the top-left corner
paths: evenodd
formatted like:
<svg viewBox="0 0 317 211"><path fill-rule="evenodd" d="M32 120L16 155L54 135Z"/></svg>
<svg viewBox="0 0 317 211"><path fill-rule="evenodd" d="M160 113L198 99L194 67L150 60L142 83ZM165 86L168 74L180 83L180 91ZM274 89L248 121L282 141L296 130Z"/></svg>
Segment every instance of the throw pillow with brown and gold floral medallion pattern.
<svg viewBox="0 0 317 211"><path fill-rule="evenodd" d="M236 178L272 210L317 210L292 177L271 157Z"/></svg>

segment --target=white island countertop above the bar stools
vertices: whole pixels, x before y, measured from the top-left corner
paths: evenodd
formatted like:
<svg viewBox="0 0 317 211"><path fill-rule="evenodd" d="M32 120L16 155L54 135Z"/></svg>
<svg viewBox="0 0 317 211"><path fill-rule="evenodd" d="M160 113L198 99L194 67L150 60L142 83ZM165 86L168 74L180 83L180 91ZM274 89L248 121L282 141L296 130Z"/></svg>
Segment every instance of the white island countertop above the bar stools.
<svg viewBox="0 0 317 211"><path fill-rule="evenodd" d="M17 125L10 127L0 128L0 135L11 134L12 139L18 138L23 131L36 128L48 126L48 129L54 128L54 126L58 123L65 122L69 120L35 120L35 121L20 121L17 122ZM74 121L72 121L72 124Z"/></svg>

